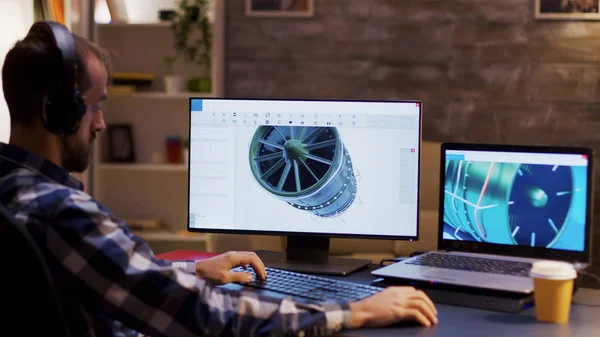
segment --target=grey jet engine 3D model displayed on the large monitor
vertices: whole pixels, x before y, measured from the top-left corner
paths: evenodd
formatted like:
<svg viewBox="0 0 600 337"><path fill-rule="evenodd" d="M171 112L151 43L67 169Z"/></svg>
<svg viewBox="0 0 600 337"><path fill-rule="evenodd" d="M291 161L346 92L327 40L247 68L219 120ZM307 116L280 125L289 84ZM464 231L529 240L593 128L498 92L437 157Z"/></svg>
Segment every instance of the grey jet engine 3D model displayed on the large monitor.
<svg viewBox="0 0 600 337"><path fill-rule="evenodd" d="M319 217L341 215L356 198L352 160L336 128L259 126L249 161L261 188Z"/></svg>

